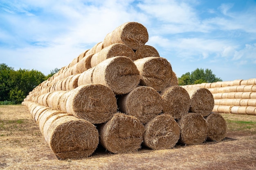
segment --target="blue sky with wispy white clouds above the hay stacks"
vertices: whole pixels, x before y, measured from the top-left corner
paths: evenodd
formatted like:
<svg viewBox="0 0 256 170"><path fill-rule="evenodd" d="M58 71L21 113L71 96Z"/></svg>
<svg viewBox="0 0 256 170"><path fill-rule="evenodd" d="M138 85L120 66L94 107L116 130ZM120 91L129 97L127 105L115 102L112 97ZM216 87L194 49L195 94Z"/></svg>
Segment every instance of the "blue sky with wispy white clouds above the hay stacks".
<svg viewBox="0 0 256 170"><path fill-rule="evenodd" d="M255 0L0 0L0 63L47 75L129 21L178 77L256 78Z"/></svg>

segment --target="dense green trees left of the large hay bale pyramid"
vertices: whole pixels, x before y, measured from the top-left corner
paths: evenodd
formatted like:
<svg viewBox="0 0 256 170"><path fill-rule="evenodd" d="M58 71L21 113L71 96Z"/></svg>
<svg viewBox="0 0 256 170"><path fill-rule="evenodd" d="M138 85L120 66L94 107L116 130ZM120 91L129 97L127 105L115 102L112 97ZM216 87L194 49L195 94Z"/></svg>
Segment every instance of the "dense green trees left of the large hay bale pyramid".
<svg viewBox="0 0 256 170"><path fill-rule="evenodd" d="M0 64L0 104L20 104L41 82L59 71L55 68L48 75L37 70L19 69L15 71L7 64Z"/></svg>

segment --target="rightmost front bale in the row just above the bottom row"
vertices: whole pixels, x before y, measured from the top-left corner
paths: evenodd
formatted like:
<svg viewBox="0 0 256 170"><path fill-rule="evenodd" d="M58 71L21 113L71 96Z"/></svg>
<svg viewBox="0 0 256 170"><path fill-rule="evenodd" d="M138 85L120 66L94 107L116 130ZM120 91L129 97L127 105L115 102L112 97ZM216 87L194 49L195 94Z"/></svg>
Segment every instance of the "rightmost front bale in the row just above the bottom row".
<svg viewBox="0 0 256 170"><path fill-rule="evenodd" d="M186 88L190 96L190 112L201 113L207 116L211 113L214 106L213 95L207 88Z"/></svg>

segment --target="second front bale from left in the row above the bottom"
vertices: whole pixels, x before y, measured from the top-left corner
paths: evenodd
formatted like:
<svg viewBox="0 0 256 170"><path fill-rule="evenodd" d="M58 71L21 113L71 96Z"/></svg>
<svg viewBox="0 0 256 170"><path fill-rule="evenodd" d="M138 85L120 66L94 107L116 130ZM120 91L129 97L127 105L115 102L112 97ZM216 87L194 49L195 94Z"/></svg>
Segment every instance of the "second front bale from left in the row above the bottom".
<svg viewBox="0 0 256 170"><path fill-rule="evenodd" d="M128 94L120 95L117 104L119 111L137 117L142 124L159 115L163 109L159 93L147 86L138 86Z"/></svg>

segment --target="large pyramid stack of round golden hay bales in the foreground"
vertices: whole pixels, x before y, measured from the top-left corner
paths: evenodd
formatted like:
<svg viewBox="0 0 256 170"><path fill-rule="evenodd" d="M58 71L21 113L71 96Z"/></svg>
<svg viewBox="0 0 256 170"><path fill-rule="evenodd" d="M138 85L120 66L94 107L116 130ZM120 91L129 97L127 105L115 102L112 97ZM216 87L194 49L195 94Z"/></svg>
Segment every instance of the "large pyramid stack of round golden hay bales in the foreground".
<svg viewBox="0 0 256 170"><path fill-rule="evenodd" d="M225 137L211 93L177 86L171 64L147 41L143 25L124 23L29 92L22 104L57 157L88 157L98 144L122 153Z"/></svg>

